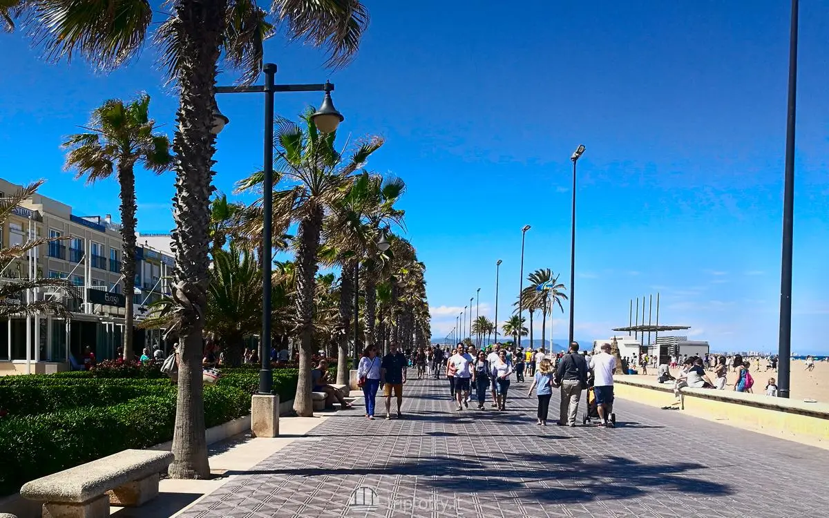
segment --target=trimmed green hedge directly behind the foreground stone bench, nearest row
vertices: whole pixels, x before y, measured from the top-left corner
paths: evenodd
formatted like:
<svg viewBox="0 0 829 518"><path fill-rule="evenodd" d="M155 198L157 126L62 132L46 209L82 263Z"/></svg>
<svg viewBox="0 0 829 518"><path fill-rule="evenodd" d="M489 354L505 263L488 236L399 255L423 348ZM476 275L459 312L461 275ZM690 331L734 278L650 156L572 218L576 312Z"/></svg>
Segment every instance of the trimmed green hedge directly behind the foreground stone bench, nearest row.
<svg viewBox="0 0 829 518"><path fill-rule="evenodd" d="M250 413L250 395L232 386L205 388L207 427ZM172 439L176 393L148 395L106 407L0 419L0 495L49 473L127 448Z"/></svg>

